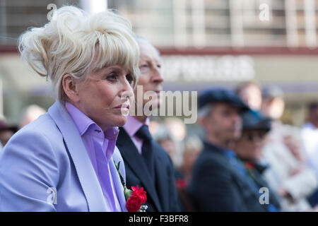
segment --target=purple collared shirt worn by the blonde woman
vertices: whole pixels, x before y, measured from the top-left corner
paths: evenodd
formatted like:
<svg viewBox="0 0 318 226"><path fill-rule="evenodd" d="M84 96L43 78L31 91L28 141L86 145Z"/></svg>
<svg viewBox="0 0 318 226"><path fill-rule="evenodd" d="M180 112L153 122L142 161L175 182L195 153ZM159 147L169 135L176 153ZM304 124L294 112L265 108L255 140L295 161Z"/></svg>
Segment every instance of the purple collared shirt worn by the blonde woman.
<svg viewBox="0 0 318 226"><path fill-rule="evenodd" d="M93 164L102 188L102 193L105 197L107 211L122 211L117 191L114 189L113 175L110 172L109 165L116 145L119 131L118 127L112 127L102 132L100 126L95 124L92 119L88 118L86 114L83 114L83 112L70 102L66 102L65 107L76 124L88 155L90 156L90 161Z"/></svg>

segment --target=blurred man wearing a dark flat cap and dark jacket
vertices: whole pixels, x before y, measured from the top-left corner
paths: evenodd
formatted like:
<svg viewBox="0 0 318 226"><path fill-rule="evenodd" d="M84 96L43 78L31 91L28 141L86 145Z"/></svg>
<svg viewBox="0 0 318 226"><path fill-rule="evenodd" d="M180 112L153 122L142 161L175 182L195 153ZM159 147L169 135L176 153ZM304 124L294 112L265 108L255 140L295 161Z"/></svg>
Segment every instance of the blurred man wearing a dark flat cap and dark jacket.
<svg viewBox="0 0 318 226"><path fill-rule="evenodd" d="M204 128L204 150L195 166L189 196L198 211L268 211L259 190L247 178L234 151L240 138L240 114L248 109L235 93L207 90L199 97L199 121Z"/></svg>

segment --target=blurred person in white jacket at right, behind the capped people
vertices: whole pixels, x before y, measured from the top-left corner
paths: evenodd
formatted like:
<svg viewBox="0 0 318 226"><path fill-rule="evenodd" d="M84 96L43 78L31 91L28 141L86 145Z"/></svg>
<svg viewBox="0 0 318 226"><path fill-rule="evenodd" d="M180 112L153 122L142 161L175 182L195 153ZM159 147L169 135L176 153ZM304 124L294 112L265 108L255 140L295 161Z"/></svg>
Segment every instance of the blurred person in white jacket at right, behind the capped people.
<svg viewBox="0 0 318 226"><path fill-rule="evenodd" d="M281 196L283 211L310 211L307 197L317 189L317 177L305 164L299 129L279 121L284 109L282 96L278 88L264 93L262 112L274 120L262 150L273 172L265 172L264 177Z"/></svg>

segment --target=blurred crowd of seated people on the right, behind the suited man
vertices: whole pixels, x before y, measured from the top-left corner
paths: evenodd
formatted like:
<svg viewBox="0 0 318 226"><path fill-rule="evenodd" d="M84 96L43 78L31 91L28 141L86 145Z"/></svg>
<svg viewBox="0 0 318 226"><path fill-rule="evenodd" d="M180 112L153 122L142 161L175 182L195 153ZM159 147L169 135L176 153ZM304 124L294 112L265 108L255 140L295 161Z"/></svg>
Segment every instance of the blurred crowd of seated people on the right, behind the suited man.
<svg viewBox="0 0 318 226"><path fill-rule="evenodd" d="M187 135L179 118L151 120L183 211L317 210L318 102L301 128L283 124L284 107L281 88L249 81L199 97L203 137Z"/></svg>

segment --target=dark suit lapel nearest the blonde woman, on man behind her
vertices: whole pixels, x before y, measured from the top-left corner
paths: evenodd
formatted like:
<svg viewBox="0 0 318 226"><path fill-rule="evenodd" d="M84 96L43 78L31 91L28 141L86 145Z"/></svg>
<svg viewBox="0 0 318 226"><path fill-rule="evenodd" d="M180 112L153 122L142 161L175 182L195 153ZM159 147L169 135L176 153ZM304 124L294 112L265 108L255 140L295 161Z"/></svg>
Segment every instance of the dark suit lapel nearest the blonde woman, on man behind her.
<svg viewBox="0 0 318 226"><path fill-rule="evenodd" d="M143 159L138 153L136 146L134 145L133 141L131 141L131 138L126 133L124 128L120 128L117 138L117 146L120 150L120 153L122 153L125 165L129 165L131 170L139 177L143 183L143 186L145 186L144 189L146 190L147 194L153 199L155 207L158 209L158 211L161 211L158 195L151 179L151 175L148 173L147 166L143 162Z"/></svg>

